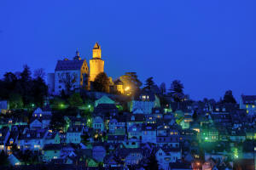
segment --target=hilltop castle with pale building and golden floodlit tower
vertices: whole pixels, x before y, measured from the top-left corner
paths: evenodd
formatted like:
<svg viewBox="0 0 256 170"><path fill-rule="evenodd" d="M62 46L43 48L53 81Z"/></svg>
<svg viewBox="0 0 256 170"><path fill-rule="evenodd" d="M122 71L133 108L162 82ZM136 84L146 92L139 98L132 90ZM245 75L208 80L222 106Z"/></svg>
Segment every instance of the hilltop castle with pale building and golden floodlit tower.
<svg viewBox="0 0 256 170"><path fill-rule="evenodd" d="M90 59L90 69L86 59L81 59L79 51L73 59L58 60L55 66L55 73L48 74L49 93L61 94L61 91L84 88L90 90L90 82L94 82L99 73L104 72L104 60L102 59L102 48L96 42L92 49L92 59ZM111 79L110 79L111 80ZM112 82L114 89L123 94L123 87L120 83ZM116 86L116 87L115 87Z"/></svg>

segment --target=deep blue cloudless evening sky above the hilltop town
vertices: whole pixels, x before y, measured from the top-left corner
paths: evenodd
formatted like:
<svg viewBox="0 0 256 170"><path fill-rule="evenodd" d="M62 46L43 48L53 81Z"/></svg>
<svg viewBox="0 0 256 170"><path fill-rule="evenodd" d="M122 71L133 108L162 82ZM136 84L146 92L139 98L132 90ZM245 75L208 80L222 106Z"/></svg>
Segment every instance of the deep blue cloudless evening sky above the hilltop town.
<svg viewBox="0 0 256 170"><path fill-rule="evenodd" d="M183 82L192 99L225 90L256 94L256 1L0 1L0 75L27 64L53 72L57 59L91 58L144 82Z"/></svg>

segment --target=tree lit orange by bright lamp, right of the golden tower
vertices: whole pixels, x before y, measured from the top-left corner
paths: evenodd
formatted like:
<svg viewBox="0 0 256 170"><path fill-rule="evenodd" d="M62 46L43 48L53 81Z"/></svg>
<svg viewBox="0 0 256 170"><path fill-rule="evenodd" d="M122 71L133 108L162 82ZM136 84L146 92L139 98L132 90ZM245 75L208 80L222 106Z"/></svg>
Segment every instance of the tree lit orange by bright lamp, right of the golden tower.
<svg viewBox="0 0 256 170"><path fill-rule="evenodd" d="M120 77L120 81L124 82L126 94L136 94L143 83L138 79L136 72L126 72Z"/></svg>

